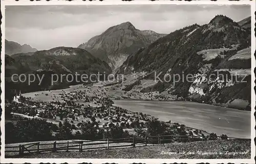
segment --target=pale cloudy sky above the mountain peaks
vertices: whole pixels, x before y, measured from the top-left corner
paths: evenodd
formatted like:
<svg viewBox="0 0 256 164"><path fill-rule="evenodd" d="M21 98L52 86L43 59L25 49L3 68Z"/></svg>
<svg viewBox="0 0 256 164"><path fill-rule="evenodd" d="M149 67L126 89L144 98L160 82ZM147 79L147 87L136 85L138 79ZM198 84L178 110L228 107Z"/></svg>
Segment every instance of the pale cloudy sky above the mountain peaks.
<svg viewBox="0 0 256 164"><path fill-rule="evenodd" d="M111 26L130 21L136 29L168 34L204 25L222 14L234 21L250 16L246 5L70 5L6 6L5 37L37 50L77 47Z"/></svg>

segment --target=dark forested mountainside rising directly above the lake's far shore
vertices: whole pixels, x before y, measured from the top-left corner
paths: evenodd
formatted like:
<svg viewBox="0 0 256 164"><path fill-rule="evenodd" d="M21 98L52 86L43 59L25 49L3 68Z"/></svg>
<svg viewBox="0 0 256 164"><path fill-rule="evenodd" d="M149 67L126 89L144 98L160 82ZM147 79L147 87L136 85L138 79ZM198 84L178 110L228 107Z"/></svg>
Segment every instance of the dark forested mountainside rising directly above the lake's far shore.
<svg viewBox="0 0 256 164"><path fill-rule="evenodd" d="M131 74L144 71L144 79L154 79L155 74L164 79L165 74L194 76L193 82L168 82L141 89L141 92L168 91L185 100L249 109L250 107L250 19L242 26L232 19L217 15L209 24L197 24L172 32L127 58L117 73ZM247 22L246 22L247 21ZM225 75L218 77L217 73ZM244 74L246 83L241 80ZM214 78L209 77L214 74ZM226 78L227 77L227 78ZM205 79L210 79L205 81Z"/></svg>

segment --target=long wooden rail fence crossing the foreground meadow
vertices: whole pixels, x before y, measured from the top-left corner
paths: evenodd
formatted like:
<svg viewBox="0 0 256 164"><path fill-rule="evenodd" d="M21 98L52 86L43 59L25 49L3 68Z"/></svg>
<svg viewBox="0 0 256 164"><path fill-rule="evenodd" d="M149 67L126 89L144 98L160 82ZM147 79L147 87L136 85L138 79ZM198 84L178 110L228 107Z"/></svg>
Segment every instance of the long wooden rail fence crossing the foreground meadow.
<svg viewBox="0 0 256 164"><path fill-rule="evenodd" d="M208 138L208 139L207 139ZM83 150L92 149L110 149L117 147L135 147L147 146L147 144L165 144L173 142L196 142L200 140L217 140L220 136L210 138L208 136L187 136L187 135L158 135L151 137L130 137L130 138L106 138L100 140L72 140L72 142L53 142L53 143L29 143L19 146L6 146L6 156L22 156L31 153L40 152L57 152L75 150L82 152ZM226 139L242 139L228 137Z"/></svg>

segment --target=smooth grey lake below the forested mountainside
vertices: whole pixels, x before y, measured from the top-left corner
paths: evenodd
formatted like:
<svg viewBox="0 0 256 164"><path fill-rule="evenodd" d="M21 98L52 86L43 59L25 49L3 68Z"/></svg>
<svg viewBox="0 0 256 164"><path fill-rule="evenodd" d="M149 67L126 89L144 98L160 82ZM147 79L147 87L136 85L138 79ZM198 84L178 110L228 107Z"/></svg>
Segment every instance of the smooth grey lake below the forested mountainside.
<svg viewBox="0 0 256 164"><path fill-rule="evenodd" d="M115 106L155 116L161 121L171 120L217 135L250 138L250 111L186 101L115 100Z"/></svg>

